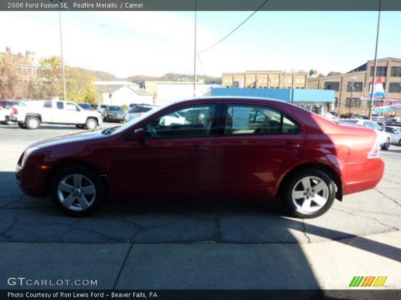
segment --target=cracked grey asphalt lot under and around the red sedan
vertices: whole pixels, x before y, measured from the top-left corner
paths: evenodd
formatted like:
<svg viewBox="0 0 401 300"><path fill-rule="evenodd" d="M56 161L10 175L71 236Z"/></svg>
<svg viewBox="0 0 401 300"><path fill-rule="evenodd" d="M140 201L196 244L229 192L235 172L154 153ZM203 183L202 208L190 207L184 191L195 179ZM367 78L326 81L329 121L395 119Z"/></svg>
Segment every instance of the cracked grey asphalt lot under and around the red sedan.
<svg viewBox="0 0 401 300"><path fill-rule="evenodd" d="M102 126L110 125L118 124ZM315 219L289 217L279 201L218 199L116 199L91 217L72 218L61 214L48 198L24 195L14 170L30 143L76 131L84 130L0 125L0 245L8 249L7 255L2 251L0 264L6 273L15 267L10 263L13 255L36 259L56 247L64 249L59 253L64 259L66 249L82 253L82 245L89 247L89 253L108 249L100 250L104 257L99 253L95 257L107 261L108 274L99 270L104 277L101 288L127 288L132 282L140 288L346 288L361 272L388 276L387 288L401 287L400 146L380 152L386 165L376 188L336 200ZM74 263L82 261L69 255L66 259L72 261L66 269L71 268L74 276ZM46 262L41 265L50 267ZM24 267L29 273L30 268ZM143 272L148 276L141 276ZM222 279L223 274L231 277ZM5 276L0 288L10 287ZM107 276L113 278L111 283ZM291 287L285 280L292 280Z"/></svg>

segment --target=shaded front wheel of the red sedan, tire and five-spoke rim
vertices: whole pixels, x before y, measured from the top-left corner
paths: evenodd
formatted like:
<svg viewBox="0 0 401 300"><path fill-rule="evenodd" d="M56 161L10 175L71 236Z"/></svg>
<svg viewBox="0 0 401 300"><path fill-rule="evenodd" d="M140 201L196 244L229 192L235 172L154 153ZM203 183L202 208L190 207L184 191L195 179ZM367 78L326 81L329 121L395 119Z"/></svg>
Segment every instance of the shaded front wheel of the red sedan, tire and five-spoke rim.
<svg viewBox="0 0 401 300"><path fill-rule="evenodd" d="M62 212L72 216L93 213L104 200L100 176L91 169L72 166L61 169L51 182L51 198Z"/></svg>

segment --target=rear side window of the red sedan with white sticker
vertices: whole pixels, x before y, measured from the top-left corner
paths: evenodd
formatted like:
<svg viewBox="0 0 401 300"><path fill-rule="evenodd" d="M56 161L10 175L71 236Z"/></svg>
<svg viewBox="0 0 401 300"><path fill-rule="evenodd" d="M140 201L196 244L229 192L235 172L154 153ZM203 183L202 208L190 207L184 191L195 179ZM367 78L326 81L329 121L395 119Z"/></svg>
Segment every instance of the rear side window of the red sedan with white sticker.
<svg viewBox="0 0 401 300"><path fill-rule="evenodd" d="M228 106L225 135L297 133L299 125L285 113L268 106Z"/></svg>

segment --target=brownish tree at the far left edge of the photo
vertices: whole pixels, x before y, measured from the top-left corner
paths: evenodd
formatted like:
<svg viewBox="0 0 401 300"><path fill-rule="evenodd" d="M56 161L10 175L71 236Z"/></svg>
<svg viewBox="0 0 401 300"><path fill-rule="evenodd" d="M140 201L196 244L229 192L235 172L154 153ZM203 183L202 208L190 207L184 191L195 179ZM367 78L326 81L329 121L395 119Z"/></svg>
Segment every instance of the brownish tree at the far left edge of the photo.
<svg viewBox="0 0 401 300"><path fill-rule="evenodd" d="M20 80L14 55L0 56L0 98L12 97L14 86Z"/></svg>

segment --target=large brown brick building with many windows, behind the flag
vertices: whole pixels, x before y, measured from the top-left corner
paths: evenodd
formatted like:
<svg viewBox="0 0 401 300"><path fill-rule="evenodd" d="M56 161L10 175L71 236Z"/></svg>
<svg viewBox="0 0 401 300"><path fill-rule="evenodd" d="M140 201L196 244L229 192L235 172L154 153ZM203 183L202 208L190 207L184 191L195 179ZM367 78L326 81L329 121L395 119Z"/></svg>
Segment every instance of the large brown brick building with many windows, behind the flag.
<svg viewBox="0 0 401 300"><path fill-rule="evenodd" d="M320 78L310 78L308 88L333 89L334 111L342 114L347 112L369 113L369 89L373 80L374 60L350 70L347 73ZM385 96L384 98L401 100L401 59L377 59L376 80L381 77ZM380 97L377 97L380 99ZM332 109L330 109L332 110ZM399 114L398 111L394 112Z"/></svg>

